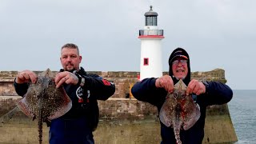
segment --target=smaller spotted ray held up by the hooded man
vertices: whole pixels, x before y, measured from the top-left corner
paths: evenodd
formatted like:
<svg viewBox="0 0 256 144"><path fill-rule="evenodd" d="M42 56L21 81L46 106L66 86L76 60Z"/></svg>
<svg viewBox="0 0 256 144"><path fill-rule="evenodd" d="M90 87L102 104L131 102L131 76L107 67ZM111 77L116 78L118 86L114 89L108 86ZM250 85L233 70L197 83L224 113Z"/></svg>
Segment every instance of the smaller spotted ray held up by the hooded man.
<svg viewBox="0 0 256 144"><path fill-rule="evenodd" d="M180 130L189 130L201 116L200 107L192 98L186 95L186 84L180 79L174 85L174 93L166 95L159 112L160 121L167 127L174 129L176 143L182 144Z"/></svg>

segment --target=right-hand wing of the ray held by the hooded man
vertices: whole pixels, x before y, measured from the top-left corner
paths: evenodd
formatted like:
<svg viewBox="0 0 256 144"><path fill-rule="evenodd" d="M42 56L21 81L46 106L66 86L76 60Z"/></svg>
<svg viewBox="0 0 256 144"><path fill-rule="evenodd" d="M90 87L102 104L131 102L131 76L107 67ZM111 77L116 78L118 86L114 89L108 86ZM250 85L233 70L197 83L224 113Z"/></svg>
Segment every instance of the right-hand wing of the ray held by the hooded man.
<svg viewBox="0 0 256 144"><path fill-rule="evenodd" d="M195 104L191 95L186 96L186 101L183 106L183 113L184 113L184 124L183 129L188 130L190 127L194 126L195 122L201 116L200 108L198 104Z"/></svg>

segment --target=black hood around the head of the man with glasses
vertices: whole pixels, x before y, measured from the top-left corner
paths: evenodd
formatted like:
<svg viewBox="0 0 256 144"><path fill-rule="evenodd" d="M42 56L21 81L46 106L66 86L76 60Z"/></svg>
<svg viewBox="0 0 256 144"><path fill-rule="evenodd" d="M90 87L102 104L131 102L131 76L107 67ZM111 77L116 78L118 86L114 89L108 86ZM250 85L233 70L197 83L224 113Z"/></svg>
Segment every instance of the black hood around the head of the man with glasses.
<svg viewBox="0 0 256 144"><path fill-rule="evenodd" d="M187 68L188 68L188 73L186 75L186 78L183 79L183 82L186 84L186 86L190 83L190 56L187 54L186 50L182 49L181 47L178 47L175 49L171 54L169 58L169 75L174 81L174 85L178 82L178 79L174 77L173 70L172 70L172 62L174 61L175 58L181 57L181 58L186 58L187 59Z"/></svg>

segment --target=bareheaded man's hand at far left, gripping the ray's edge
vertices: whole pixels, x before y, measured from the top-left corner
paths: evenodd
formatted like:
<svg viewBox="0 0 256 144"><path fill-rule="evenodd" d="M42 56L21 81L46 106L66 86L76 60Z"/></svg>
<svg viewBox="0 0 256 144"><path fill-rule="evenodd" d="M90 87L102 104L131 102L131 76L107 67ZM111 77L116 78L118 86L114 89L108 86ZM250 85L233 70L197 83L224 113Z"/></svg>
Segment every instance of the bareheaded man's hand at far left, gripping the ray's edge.
<svg viewBox="0 0 256 144"><path fill-rule="evenodd" d="M34 72L30 70L24 70L21 72L18 72L17 77L15 79L16 83L24 83L24 82L37 82L38 76L37 74L34 74Z"/></svg>

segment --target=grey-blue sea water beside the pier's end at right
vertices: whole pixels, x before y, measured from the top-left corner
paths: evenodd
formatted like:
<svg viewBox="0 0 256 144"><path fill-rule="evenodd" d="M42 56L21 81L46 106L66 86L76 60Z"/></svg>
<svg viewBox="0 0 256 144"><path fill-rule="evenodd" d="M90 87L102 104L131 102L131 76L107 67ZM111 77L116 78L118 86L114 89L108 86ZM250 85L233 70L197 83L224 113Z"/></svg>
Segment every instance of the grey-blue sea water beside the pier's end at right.
<svg viewBox="0 0 256 144"><path fill-rule="evenodd" d="M235 144L256 143L256 90L233 90L228 103L234 130Z"/></svg>

